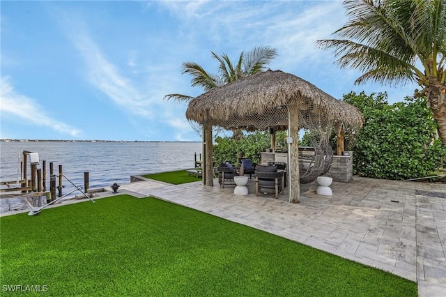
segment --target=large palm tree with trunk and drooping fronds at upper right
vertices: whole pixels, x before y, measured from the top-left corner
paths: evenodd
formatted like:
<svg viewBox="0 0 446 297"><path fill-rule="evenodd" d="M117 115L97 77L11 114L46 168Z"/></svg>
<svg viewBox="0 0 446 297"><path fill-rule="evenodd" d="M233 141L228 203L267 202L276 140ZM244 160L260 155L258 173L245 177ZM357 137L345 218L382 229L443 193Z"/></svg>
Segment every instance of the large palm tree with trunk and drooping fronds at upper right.
<svg viewBox="0 0 446 297"><path fill-rule="evenodd" d="M446 0L346 0L349 22L318 40L341 68L360 70L355 84L417 82L446 145Z"/></svg>

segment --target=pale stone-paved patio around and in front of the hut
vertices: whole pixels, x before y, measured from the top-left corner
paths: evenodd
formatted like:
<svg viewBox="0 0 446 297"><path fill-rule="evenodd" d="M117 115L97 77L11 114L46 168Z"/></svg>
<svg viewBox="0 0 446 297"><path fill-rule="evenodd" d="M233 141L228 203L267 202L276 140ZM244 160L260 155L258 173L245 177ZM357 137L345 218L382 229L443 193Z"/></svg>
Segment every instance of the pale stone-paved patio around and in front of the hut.
<svg viewBox="0 0 446 297"><path fill-rule="evenodd" d="M418 283L419 296L445 296L446 199L415 190L446 192L446 185L387 181L355 176L334 182L332 196L316 194L317 184L301 185L300 204L284 195L233 194L201 182L167 185L141 181L120 192L152 195L304 243L340 257L389 271Z"/></svg>

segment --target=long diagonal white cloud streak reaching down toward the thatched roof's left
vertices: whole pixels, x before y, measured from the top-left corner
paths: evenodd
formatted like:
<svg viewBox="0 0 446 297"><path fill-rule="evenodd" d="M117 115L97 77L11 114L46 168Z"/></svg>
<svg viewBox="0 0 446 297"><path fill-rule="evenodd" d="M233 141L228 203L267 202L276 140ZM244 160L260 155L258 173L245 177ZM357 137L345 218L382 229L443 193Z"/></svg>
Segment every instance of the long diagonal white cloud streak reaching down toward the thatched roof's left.
<svg viewBox="0 0 446 297"><path fill-rule="evenodd" d="M72 17L68 19L73 20ZM151 136L160 131L153 131L152 125L148 122L164 123L178 130L176 135L178 141L183 141L184 135L194 132L184 117L186 107L173 100L163 100L168 93L177 93L185 89L178 88L180 84L172 75L173 72L175 75L179 73L179 66L169 72L164 64L144 64L138 61L139 54L134 51L130 53L125 67L130 68L132 73L138 73L138 76L133 79L125 77L121 75L123 71L105 58L105 54L93 41L83 22L65 21L63 24L70 40L86 61L89 82L131 115L141 116L139 119L129 118L137 129ZM137 79L141 83L138 83Z"/></svg>

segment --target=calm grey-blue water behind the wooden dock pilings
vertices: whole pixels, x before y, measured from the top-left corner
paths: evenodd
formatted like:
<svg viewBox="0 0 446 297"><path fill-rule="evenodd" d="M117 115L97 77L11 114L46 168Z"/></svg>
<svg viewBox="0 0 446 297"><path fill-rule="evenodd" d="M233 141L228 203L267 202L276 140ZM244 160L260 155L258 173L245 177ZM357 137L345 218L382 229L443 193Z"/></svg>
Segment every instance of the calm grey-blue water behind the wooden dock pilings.
<svg viewBox="0 0 446 297"><path fill-rule="evenodd" d="M201 143L0 142L0 181L17 180L22 151L38 153L38 169L46 161L47 189L49 162L53 162L54 174L59 174L59 165L62 165L63 174L76 185L84 186L84 172L89 172L90 188L109 188L113 183L130 183L130 175L194 167L194 153L201 153ZM30 167L28 172L30 178ZM70 191L70 185L65 180L63 185L65 194Z"/></svg>

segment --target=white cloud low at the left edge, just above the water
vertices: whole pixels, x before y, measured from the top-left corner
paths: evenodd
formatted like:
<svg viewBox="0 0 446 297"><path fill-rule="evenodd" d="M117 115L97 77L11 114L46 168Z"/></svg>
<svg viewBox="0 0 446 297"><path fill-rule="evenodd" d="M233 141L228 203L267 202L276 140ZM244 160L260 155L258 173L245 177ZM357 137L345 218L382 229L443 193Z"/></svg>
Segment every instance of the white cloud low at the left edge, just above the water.
<svg viewBox="0 0 446 297"><path fill-rule="evenodd" d="M8 77L1 77L0 111L2 117L5 115L14 116L16 119L26 121L26 123L46 126L72 137L76 137L81 132L66 123L52 119L33 99L17 93Z"/></svg>

